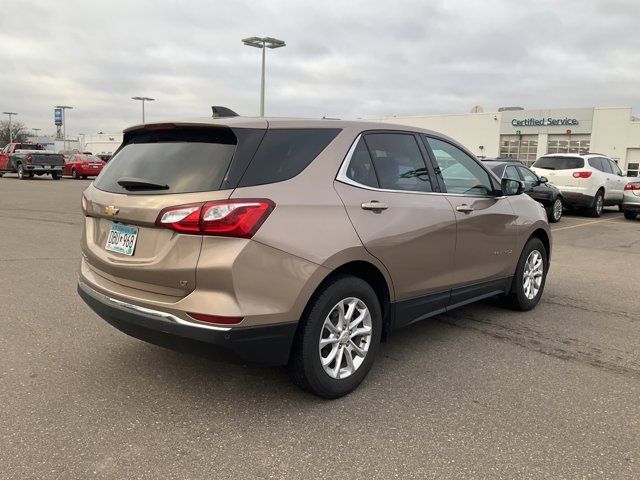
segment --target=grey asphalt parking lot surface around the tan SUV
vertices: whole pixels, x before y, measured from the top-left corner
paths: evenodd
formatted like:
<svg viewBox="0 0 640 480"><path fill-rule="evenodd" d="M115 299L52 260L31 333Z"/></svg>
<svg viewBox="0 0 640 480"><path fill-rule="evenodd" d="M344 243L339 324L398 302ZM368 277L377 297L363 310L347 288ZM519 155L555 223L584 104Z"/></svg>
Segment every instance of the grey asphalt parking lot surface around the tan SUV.
<svg viewBox="0 0 640 480"><path fill-rule="evenodd" d="M536 310L398 331L324 401L93 314L75 290L88 184L0 179L0 478L640 477L640 221L566 216Z"/></svg>

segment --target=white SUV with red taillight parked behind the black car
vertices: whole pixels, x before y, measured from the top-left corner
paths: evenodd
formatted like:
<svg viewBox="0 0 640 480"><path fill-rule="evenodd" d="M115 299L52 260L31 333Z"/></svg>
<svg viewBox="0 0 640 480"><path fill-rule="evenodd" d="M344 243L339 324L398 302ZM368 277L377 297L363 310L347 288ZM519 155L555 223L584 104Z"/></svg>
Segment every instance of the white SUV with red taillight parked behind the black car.
<svg viewBox="0 0 640 480"><path fill-rule="evenodd" d="M564 206L586 208L593 217L602 215L605 205L621 208L628 179L609 157L599 153L549 153L531 167L562 192Z"/></svg>

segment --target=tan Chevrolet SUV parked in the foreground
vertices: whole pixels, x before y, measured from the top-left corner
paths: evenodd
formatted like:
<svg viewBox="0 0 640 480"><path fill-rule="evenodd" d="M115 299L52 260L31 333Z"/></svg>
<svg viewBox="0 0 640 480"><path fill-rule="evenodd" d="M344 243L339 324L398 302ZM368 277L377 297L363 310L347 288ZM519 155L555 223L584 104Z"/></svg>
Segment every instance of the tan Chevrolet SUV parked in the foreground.
<svg viewBox="0 0 640 480"><path fill-rule="evenodd" d="M521 192L417 128L136 126L83 194L78 291L125 333L286 364L335 398L396 328L492 296L538 303L551 236Z"/></svg>

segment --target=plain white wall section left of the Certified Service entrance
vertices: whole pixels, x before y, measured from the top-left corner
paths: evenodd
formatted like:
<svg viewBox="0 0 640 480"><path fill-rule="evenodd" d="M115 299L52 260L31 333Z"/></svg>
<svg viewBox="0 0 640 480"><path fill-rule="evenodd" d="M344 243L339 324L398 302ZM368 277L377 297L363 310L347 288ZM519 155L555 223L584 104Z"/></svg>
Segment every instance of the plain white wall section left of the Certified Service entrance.
<svg viewBox="0 0 640 480"><path fill-rule="evenodd" d="M386 117L385 123L426 128L447 135L474 154L497 157L500 152L500 113L468 113L424 117ZM483 146L483 149L479 147Z"/></svg>

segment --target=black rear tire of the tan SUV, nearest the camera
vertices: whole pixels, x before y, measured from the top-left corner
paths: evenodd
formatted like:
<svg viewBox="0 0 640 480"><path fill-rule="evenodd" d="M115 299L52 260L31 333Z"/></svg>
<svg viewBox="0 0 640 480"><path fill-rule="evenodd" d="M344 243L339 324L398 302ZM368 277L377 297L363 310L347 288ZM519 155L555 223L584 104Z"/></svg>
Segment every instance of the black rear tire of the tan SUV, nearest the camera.
<svg viewBox="0 0 640 480"><path fill-rule="evenodd" d="M358 324L352 325L348 330L366 331L369 328L368 337L366 333L351 335L355 342L349 340L349 335L344 333L347 330L336 328L336 324L340 327L337 316L340 305L348 314L349 304L355 306L351 318L358 312L362 315L362 307L369 313L368 317L365 314ZM368 326L367 319L370 323ZM327 322L333 328L328 328ZM338 338L340 331L342 334ZM289 375L299 387L320 397L331 399L346 395L360 385L369 373L380 347L381 335L380 302L371 286L360 278L339 275L309 301L293 342L287 365ZM327 343L321 349L322 340ZM364 356L356 354L354 346L364 351ZM327 361L326 366L322 364L323 356ZM349 369L353 369L352 372Z"/></svg>

